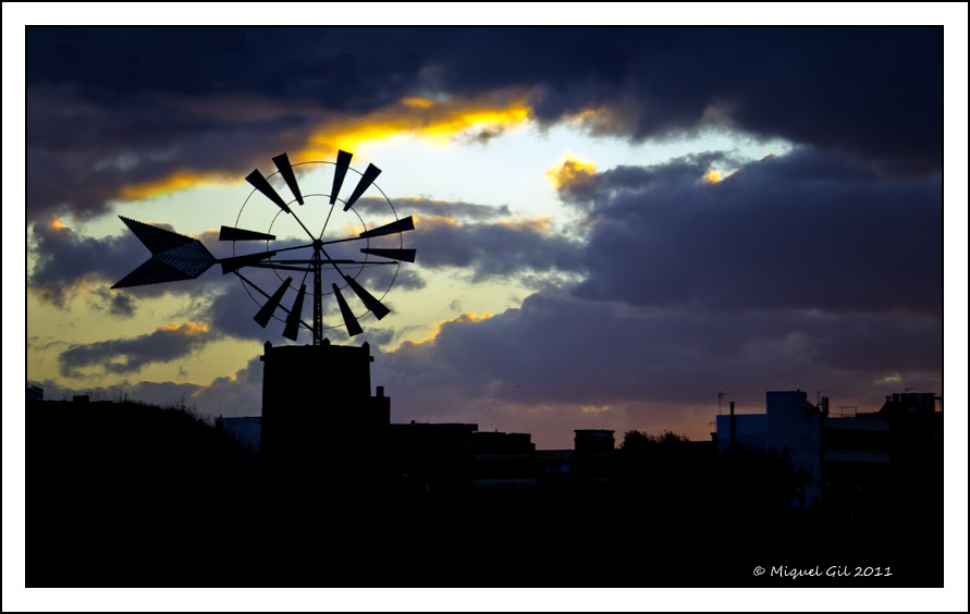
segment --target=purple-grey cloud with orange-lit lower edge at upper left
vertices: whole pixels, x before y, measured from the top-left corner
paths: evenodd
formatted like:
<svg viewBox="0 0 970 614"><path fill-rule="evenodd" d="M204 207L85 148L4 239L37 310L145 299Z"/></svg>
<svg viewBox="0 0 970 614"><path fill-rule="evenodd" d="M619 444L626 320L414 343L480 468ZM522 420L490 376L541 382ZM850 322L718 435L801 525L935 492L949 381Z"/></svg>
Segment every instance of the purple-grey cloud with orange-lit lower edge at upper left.
<svg viewBox="0 0 970 614"><path fill-rule="evenodd" d="M27 218L87 220L112 201L206 184L242 183L267 151L332 159L397 134L447 140L482 125L518 125L521 95L389 102L368 114L250 94L188 98L136 91L98 99L72 86L28 88Z"/></svg>

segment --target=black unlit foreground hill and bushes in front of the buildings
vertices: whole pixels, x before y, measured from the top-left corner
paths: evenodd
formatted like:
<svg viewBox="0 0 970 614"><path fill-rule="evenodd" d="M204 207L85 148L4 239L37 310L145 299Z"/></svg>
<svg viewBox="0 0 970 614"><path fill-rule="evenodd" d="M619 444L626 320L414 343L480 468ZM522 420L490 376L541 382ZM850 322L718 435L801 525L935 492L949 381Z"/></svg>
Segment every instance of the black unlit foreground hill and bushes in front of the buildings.
<svg viewBox="0 0 970 614"><path fill-rule="evenodd" d="M943 586L935 480L795 511L757 467L628 449L609 484L434 493L271 472L175 409L27 415L28 587Z"/></svg>

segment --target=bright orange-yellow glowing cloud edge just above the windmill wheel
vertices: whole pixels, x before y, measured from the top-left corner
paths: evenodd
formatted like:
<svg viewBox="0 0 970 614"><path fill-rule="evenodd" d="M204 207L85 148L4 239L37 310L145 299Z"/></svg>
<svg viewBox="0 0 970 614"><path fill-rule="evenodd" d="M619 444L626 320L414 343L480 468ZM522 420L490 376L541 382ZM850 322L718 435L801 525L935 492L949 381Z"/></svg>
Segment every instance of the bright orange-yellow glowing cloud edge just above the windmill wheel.
<svg viewBox="0 0 970 614"><path fill-rule="evenodd" d="M317 126L296 157L329 160L337 149L359 151L368 143L412 136L434 145L474 128L511 130L523 125L530 108L524 94L480 98L404 98L357 118L340 116Z"/></svg>

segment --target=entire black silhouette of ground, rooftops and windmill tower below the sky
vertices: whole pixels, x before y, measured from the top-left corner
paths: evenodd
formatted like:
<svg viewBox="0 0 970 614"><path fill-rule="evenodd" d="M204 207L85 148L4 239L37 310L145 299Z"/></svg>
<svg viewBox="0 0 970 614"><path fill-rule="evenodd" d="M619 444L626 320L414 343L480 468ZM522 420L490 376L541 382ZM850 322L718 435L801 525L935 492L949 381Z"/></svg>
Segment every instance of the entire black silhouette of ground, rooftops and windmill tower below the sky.
<svg viewBox="0 0 970 614"><path fill-rule="evenodd" d="M751 569L834 561L892 567L865 586L942 584L932 395L843 417L771 392L713 441L579 429L537 450L392 422L371 359L267 344L263 416L219 429L179 408L28 403L33 582L208 586L202 562L225 586L779 586Z"/></svg>

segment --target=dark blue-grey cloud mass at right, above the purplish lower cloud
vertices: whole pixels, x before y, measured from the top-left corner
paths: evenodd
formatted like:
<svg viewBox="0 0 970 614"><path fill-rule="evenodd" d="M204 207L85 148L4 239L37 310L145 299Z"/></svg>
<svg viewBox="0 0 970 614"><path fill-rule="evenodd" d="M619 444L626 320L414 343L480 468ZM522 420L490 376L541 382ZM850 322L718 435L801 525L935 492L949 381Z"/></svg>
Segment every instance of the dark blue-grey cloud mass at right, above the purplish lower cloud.
<svg viewBox="0 0 970 614"><path fill-rule="evenodd" d="M585 176L592 223L578 296L639 306L938 315L938 177L886 181L796 150L720 183L682 160Z"/></svg>

